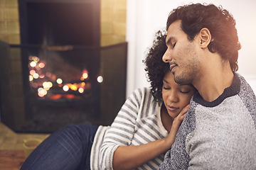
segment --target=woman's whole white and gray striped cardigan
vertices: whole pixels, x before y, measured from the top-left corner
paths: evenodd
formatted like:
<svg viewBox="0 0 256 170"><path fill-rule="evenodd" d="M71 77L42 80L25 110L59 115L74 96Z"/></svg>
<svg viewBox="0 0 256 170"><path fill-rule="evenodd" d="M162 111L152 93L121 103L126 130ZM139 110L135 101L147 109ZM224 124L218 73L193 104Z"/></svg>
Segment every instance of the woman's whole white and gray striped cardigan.
<svg viewBox="0 0 256 170"><path fill-rule="evenodd" d="M114 119L111 127L100 126L90 157L91 169L113 169L114 151L119 146L143 145L168 135L161 123L161 104L154 101L149 88L135 90ZM164 154L138 169L157 169Z"/></svg>

